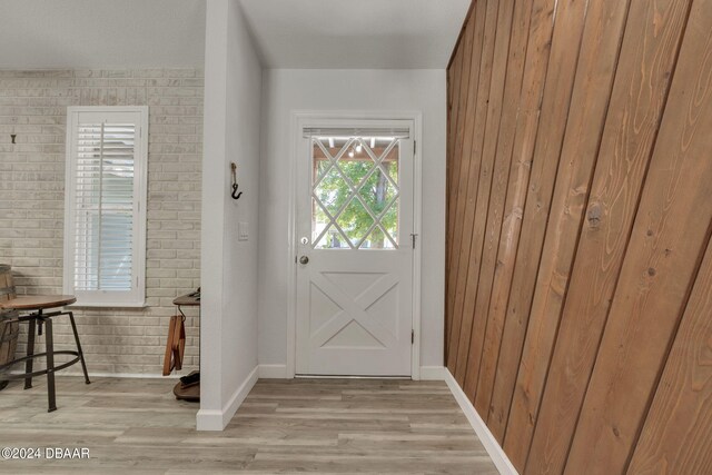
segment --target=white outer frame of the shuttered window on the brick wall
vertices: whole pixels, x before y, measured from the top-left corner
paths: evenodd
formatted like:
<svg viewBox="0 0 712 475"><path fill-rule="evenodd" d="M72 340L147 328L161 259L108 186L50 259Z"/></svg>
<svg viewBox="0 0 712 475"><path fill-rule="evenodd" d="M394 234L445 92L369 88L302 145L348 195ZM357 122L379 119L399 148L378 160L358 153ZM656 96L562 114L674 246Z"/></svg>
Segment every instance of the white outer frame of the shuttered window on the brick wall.
<svg viewBox="0 0 712 475"><path fill-rule="evenodd" d="M79 120L90 116L97 122L111 122L113 117L138 113L134 148L134 239L131 243L131 290L76 290L75 249L77 244L76 185L77 137ZM116 119L115 119L116 120ZM121 118L119 120L126 120ZM148 194L148 106L70 106L67 108L65 178L65 260L63 293L77 297L77 307L145 307L146 306L146 209Z"/></svg>

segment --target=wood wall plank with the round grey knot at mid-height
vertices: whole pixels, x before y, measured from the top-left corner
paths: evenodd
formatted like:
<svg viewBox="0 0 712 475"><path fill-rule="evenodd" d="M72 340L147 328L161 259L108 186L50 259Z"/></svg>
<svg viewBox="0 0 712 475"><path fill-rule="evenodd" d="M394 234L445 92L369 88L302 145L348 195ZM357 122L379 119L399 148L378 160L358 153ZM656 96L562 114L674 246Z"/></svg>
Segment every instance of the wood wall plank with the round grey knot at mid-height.
<svg viewBox="0 0 712 475"><path fill-rule="evenodd" d="M525 473L561 473L566 464L623 258L626 250L627 256L637 250L635 241L629 247L631 226L689 3L669 0L631 4L621 58L635 60L621 61L616 70ZM653 192L659 189L653 188ZM617 294L621 290L617 287Z"/></svg>

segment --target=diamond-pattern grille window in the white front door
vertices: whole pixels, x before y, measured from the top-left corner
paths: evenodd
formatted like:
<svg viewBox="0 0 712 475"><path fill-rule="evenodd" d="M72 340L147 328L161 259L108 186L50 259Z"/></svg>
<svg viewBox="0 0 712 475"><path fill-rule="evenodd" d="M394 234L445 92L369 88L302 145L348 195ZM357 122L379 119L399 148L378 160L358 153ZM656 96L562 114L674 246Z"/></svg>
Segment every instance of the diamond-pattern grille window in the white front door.
<svg viewBox="0 0 712 475"><path fill-rule="evenodd" d="M398 138L313 137L316 249L398 248Z"/></svg>

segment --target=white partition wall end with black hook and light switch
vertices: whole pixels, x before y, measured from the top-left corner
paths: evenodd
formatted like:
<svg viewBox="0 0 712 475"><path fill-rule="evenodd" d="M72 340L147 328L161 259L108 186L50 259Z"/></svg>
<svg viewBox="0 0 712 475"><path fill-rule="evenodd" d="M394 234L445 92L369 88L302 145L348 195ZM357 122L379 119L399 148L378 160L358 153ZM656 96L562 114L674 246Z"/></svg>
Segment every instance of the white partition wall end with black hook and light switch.
<svg viewBox="0 0 712 475"><path fill-rule="evenodd" d="M208 0L198 429L220 431L257 380L257 198L261 66L240 7ZM244 191L231 199L230 168ZM238 222L251 230L237 240Z"/></svg>

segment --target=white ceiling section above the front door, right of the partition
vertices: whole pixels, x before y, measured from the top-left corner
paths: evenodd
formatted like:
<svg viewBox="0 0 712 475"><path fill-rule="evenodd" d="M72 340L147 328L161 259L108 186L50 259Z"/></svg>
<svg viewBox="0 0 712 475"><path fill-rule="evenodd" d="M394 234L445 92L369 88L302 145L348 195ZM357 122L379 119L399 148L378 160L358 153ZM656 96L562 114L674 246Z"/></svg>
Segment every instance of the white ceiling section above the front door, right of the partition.
<svg viewBox="0 0 712 475"><path fill-rule="evenodd" d="M267 68L441 69L471 0L240 0Z"/></svg>

